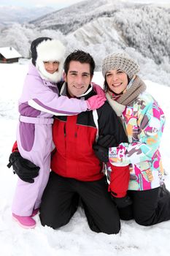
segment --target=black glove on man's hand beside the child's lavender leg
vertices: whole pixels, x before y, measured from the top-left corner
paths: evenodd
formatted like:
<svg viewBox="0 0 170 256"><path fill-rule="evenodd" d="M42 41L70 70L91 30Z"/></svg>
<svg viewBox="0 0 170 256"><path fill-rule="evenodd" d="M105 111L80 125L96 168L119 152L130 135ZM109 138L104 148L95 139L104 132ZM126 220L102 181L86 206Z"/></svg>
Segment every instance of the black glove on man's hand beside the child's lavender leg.
<svg viewBox="0 0 170 256"><path fill-rule="evenodd" d="M9 156L9 164L7 167L13 167L14 173L20 179L28 183L34 183L34 178L39 175L39 167L33 162L21 157L20 152L13 152Z"/></svg>

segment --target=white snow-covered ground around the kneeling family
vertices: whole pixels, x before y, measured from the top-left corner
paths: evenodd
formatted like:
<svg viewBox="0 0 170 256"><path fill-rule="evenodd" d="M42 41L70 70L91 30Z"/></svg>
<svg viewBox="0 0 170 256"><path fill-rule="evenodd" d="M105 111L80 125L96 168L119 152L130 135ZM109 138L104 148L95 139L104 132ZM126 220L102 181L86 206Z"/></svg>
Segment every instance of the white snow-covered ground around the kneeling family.
<svg viewBox="0 0 170 256"><path fill-rule="evenodd" d="M15 141L18 122L17 101L27 72L27 64L0 64L0 255L1 256L168 256L170 221L152 227L142 227L133 220L121 222L117 235L93 233L81 208L68 225L58 230L42 227L39 217L34 230L24 230L11 218L11 203L17 176L7 168L8 157ZM152 67L150 67L152 72ZM159 75L159 74L158 74ZM101 73L94 81L102 85ZM170 189L170 88L145 80L147 91L158 100L166 114L166 127L161 143L163 164L169 175ZM50 211L50 209L49 209Z"/></svg>

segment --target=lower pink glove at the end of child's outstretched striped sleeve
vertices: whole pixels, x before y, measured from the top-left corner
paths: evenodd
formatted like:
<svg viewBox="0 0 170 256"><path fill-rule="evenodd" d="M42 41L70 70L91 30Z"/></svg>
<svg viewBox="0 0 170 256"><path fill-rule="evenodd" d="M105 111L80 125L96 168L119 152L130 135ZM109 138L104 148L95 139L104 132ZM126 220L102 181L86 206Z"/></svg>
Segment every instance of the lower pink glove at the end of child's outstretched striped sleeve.
<svg viewBox="0 0 170 256"><path fill-rule="evenodd" d="M107 100L106 97L101 97L99 95L94 95L86 100L88 105L88 110L95 110L101 108L104 105L104 102Z"/></svg>

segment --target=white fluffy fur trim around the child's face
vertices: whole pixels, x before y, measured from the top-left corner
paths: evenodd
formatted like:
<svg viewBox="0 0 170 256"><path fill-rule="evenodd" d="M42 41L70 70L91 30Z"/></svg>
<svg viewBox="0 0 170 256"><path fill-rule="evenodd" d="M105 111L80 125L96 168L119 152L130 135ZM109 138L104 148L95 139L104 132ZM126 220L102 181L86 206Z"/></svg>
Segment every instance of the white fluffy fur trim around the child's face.
<svg viewBox="0 0 170 256"><path fill-rule="evenodd" d="M43 41L36 47L36 51L36 68L39 70L41 77L55 83L60 81L63 75L63 61L65 53L65 47L63 44L56 39ZM44 61L58 61L58 71L53 74L47 72Z"/></svg>

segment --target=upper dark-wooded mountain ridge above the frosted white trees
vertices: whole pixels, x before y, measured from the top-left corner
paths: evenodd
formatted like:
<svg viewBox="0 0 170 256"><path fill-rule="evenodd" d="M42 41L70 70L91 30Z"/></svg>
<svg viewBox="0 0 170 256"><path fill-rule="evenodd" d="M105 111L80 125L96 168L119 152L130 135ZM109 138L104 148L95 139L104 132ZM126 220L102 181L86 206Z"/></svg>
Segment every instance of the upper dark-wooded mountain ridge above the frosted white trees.
<svg viewBox="0 0 170 256"><path fill-rule="evenodd" d="M170 8L117 0L88 0L31 23L41 30L74 33L85 45L94 45L103 39L115 42L117 34L123 48L133 47L157 64L164 57L170 60Z"/></svg>

